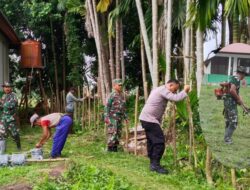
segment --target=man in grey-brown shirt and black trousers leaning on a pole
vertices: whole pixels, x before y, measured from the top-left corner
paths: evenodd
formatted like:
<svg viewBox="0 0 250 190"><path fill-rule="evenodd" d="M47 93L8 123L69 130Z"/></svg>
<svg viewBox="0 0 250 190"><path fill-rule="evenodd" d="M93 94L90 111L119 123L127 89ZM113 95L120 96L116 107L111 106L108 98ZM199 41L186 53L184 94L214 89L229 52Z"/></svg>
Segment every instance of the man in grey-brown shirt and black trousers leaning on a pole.
<svg viewBox="0 0 250 190"><path fill-rule="evenodd" d="M173 79L169 80L166 85L153 89L139 117L146 132L150 170L162 174L167 173L167 170L160 165L165 150L165 138L160 127L162 116L168 101L181 101L187 97L190 90L190 87L185 85L184 90L176 94L179 87L179 81Z"/></svg>

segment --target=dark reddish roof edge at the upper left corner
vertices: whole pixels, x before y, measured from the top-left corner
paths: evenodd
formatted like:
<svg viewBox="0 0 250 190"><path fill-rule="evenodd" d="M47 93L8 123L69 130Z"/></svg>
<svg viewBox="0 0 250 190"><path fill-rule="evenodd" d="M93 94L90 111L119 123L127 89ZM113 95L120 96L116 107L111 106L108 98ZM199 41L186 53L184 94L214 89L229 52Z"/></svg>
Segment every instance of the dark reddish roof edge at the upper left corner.
<svg viewBox="0 0 250 190"><path fill-rule="evenodd" d="M18 38L11 24L1 11L0 11L0 32L3 33L3 35L9 40L12 46L17 47L20 45L20 39Z"/></svg>

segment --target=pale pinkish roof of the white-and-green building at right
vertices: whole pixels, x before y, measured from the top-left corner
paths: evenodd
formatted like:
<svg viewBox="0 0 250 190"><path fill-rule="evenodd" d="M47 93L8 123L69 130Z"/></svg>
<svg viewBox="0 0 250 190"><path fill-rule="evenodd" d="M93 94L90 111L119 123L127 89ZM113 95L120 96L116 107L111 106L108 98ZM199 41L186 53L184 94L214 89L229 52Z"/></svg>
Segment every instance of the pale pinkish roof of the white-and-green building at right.
<svg viewBox="0 0 250 190"><path fill-rule="evenodd" d="M230 54L250 54L250 45L243 43L229 44L222 48L219 53L230 53Z"/></svg>

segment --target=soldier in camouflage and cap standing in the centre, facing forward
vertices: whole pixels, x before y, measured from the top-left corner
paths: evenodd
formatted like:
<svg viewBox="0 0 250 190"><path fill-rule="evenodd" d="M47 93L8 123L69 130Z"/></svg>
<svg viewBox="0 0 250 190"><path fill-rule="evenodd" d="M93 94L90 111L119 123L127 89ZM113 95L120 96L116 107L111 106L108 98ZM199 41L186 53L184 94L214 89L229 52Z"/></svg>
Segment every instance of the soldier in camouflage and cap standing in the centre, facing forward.
<svg viewBox="0 0 250 190"><path fill-rule="evenodd" d="M105 123L107 124L108 136L108 151L117 152L119 139L122 133L122 121L125 119L126 123L127 114L125 107L125 99L122 93L122 80L113 80L113 91L109 95L105 107Z"/></svg>

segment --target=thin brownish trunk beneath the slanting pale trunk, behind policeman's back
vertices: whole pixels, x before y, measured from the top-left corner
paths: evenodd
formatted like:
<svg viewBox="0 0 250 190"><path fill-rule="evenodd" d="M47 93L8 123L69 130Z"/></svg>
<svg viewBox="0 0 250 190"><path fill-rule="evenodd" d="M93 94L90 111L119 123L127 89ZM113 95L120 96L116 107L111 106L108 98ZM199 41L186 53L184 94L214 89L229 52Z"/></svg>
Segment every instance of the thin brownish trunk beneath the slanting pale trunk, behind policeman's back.
<svg viewBox="0 0 250 190"><path fill-rule="evenodd" d="M146 63L145 63L145 53L144 53L144 42L141 35L141 67L142 67L142 81L143 81L143 92L144 92L144 100L148 99L148 85L146 79Z"/></svg>

